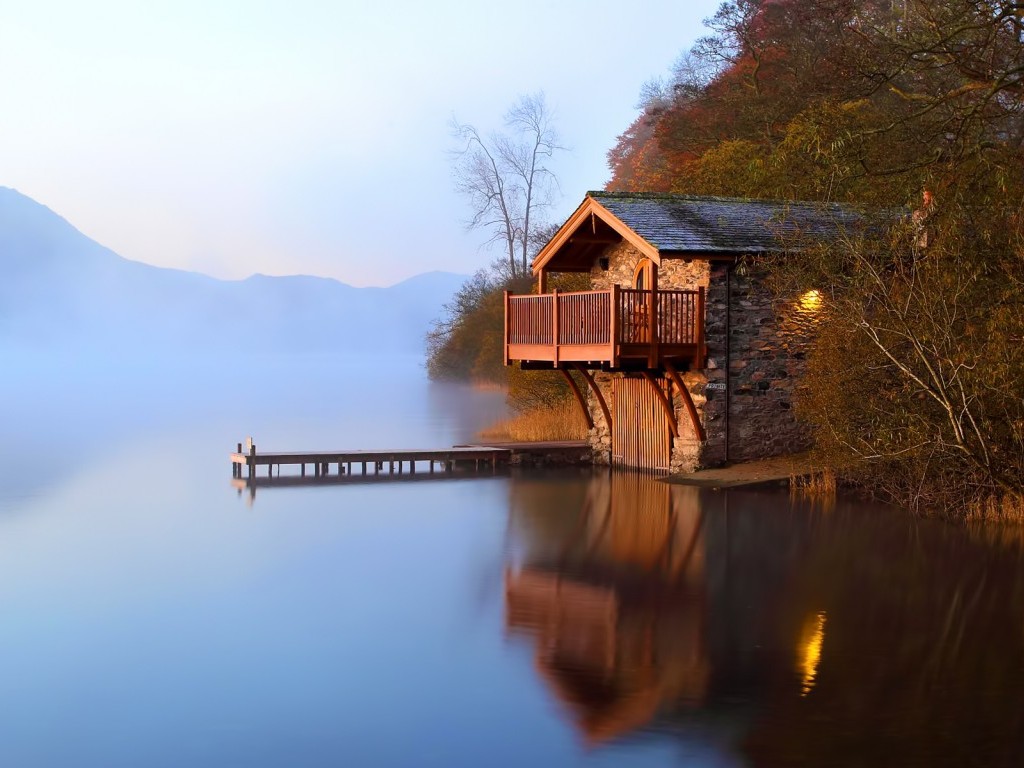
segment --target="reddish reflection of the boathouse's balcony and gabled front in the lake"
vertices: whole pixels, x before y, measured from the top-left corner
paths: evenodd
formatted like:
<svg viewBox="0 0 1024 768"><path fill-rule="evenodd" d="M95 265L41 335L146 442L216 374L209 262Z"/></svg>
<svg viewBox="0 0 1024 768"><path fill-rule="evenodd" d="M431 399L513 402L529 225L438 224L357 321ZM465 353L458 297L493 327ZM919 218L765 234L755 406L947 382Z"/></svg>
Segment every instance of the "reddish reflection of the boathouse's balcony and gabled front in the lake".
<svg viewBox="0 0 1024 768"><path fill-rule="evenodd" d="M703 701L705 529L695 489L602 475L557 543L542 537L507 569L507 627L532 638L539 674L588 741Z"/></svg>

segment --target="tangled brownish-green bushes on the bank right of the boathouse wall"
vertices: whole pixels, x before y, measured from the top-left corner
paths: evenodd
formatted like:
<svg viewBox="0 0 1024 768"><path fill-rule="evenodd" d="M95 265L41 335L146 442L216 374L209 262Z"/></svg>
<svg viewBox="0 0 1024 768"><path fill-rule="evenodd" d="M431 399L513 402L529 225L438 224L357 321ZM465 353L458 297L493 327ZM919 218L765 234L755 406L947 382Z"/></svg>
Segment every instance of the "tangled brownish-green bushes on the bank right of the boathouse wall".
<svg viewBox="0 0 1024 768"><path fill-rule="evenodd" d="M959 516L1024 487L1021 200L935 207L776 265L784 290L825 296L798 413L829 464L888 498Z"/></svg>

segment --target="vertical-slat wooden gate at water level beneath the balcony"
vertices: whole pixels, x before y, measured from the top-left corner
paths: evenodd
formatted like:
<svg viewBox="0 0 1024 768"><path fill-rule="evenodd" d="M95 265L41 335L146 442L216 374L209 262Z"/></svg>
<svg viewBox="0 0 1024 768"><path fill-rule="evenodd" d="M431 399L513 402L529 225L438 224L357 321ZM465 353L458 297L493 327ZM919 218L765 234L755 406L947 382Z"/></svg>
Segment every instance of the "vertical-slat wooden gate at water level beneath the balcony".
<svg viewBox="0 0 1024 768"><path fill-rule="evenodd" d="M672 401L666 379L655 379ZM612 379L611 463L653 472L668 472L671 464L669 420L650 384L640 378Z"/></svg>

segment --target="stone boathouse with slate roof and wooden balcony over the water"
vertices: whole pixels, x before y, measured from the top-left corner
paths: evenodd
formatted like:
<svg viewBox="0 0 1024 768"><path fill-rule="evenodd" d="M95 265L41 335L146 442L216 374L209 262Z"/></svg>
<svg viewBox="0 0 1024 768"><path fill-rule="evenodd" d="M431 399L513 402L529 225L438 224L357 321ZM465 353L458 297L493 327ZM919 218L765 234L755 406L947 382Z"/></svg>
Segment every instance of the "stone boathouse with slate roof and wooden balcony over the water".
<svg viewBox="0 0 1024 768"><path fill-rule="evenodd" d="M812 203L589 193L534 260L538 292L506 297L506 365L566 376L598 463L686 472L804 450L793 396L820 297L778 303L759 261L857 222ZM556 272L592 290L549 293Z"/></svg>

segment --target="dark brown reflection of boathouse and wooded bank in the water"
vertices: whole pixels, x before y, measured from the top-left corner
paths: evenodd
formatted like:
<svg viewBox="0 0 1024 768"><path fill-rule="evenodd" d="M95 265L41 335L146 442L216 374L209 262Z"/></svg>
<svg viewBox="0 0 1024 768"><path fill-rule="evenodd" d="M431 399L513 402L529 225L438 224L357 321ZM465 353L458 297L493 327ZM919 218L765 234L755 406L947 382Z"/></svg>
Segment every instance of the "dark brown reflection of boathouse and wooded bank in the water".
<svg viewBox="0 0 1024 768"><path fill-rule="evenodd" d="M848 502L628 474L568 487L512 485L505 622L586 743L1024 764L1019 549Z"/></svg>

